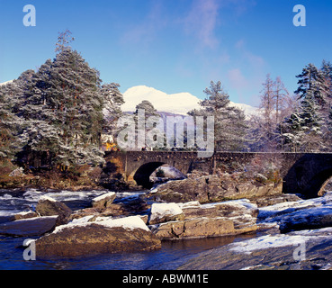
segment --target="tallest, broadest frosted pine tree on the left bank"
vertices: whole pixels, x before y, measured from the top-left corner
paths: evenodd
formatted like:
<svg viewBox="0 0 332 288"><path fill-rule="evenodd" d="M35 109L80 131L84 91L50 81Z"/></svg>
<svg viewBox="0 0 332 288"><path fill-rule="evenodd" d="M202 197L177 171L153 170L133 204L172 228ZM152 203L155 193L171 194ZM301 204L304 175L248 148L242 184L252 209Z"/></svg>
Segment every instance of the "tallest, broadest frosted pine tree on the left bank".
<svg viewBox="0 0 332 288"><path fill-rule="evenodd" d="M22 120L21 158L27 166L67 169L103 162L99 72L67 42L59 39L53 61L47 60L37 72L22 73L16 81L18 101L13 111Z"/></svg>

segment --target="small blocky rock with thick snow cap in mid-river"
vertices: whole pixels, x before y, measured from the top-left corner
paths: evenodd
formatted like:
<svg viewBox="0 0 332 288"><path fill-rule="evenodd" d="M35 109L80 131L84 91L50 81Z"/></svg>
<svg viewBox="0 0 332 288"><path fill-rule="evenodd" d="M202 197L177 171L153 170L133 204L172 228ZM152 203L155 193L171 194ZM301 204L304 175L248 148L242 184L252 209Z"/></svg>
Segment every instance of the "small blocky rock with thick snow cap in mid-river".
<svg viewBox="0 0 332 288"><path fill-rule="evenodd" d="M154 203L151 206L150 225L183 219L184 212L176 203Z"/></svg>

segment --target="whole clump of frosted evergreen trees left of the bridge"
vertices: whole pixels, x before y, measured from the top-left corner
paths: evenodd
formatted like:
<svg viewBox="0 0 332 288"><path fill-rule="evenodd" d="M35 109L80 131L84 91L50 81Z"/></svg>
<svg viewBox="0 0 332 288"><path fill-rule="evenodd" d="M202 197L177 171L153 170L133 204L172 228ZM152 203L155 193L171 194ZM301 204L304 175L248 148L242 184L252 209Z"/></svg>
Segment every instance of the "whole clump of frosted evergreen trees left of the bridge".
<svg viewBox="0 0 332 288"><path fill-rule="evenodd" d="M59 34L56 58L0 87L0 156L19 152L17 161L28 168L103 163L101 134L112 130L123 98L119 85L101 85L99 72L67 46L69 36ZM18 149L8 144L13 139Z"/></svg>

